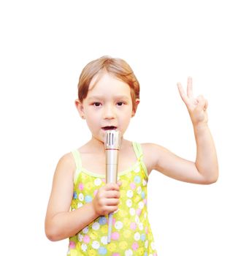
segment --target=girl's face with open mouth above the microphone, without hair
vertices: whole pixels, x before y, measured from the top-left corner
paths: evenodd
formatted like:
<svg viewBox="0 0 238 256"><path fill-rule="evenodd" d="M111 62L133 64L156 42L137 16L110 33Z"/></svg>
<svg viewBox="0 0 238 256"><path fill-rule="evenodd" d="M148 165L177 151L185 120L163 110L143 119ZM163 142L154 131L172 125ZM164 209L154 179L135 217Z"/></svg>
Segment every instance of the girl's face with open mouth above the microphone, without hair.
<svg viewBox="0 0 238 256"><path fill-rule="evenodd" d="M131 88L127 83L107 72L95 83L96 78L91 81L87 97L82 103L76 101L76 105L93 137L104 141L107 129L118 129L123 135L134 111Z"/></svg>

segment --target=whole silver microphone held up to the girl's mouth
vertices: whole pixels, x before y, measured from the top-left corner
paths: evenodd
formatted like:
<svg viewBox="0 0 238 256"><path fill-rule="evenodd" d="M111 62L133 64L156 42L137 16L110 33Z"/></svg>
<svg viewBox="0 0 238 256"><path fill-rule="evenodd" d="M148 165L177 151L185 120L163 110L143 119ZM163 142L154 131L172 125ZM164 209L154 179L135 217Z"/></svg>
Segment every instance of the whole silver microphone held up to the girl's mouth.
<svg viewBox="0 0 238 256"><path fill-rule="evenodd" d="M117 129L110 129L105 132L104 147L106 153L106 182L117 183L118 181L118 152L120 149L120 132ZM107 243L111 241L112 214L108 214Z"/></svg>

